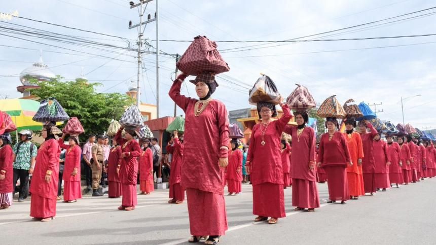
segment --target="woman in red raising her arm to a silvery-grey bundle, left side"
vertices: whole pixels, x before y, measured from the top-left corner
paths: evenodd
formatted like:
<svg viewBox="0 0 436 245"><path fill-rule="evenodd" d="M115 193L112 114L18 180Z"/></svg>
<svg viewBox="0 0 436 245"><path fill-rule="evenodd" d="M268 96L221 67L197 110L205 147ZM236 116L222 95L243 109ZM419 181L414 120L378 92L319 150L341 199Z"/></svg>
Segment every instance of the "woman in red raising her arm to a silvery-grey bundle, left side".
<svg viewBox="0 0 436 245"><path fill-rule="evenodd" d="M121 137L121 133L124 127L121 127L117 134L115 134L115 140L121 146L121 161L117 166L117 173L120 174L121 191L123 193L123 200L120 210L132 211L135 209L135 205L138 204L136 196L136 181L138 176L138 157L141 155L141 148L134 137L136 132L131 127L126 127L124 138Z"/></svg>

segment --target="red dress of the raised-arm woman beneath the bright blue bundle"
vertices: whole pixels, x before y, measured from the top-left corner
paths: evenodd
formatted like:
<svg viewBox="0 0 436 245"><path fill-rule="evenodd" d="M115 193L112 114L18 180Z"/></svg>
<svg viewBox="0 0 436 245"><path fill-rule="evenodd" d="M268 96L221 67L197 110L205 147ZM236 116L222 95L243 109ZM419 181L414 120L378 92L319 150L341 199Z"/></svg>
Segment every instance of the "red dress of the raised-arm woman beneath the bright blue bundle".
<svg viewBox="0 0 436 245"><path fill-rule="evenodd" d="M373 143L374 137L378 132L371 123L368 123L367 127L371 130L371 132L360 134L365 155L364 159L362 159L362 172L364 176L365 193L373 193L377 191Z"/></svg>

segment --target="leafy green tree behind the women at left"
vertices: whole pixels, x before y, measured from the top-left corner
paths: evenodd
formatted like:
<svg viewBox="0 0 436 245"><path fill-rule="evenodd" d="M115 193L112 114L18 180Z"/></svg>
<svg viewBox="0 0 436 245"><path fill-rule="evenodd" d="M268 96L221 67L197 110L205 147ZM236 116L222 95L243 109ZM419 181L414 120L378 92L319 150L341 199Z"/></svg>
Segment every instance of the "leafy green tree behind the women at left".
<svg viewBox="0 0 436 245"><path fill-rule="evenodd" d="M112 119L119 120L126 107L134 101L120 93L97 93L95 87L100 83L88 83L86 80L62 82L57 76L50 81L31 80L40 86L31 93L40 100L54 97L70 117L77 117L85 129L81 141L86 141L88 134L103 133Z"/></svg>

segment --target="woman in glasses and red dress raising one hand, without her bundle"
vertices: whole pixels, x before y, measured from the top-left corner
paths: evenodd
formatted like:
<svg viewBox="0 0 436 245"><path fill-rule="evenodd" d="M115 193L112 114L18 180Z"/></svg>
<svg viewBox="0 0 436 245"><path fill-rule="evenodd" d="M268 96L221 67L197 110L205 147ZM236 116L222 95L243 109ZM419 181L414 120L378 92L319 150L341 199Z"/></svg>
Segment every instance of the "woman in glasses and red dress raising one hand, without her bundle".
<svg viewBox="0 0 436 245"><path fill-rule="evenodd" d="M277 116L275 105L258 102L257 109L262 122L253 127L245 167L253 186L253 214L255 222L268 220L277 223L286 217L284 212L283 167L280 156L280 137L292 118L286 104L282 104L283 116Z"/></svg>

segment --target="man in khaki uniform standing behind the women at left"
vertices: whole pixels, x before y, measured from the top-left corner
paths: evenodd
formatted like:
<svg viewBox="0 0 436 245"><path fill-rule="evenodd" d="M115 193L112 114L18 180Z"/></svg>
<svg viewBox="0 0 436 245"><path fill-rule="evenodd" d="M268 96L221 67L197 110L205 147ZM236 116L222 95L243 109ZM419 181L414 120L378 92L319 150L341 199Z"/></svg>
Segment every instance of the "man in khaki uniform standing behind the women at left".
<svg viewBox="0 0 436 245"><path fill-rule="evenodd" d="M104 166L104 136L97 136L97 144L92 146L91 170L92 170L92 196L102 196L100 191L101 172Z"/></svg>

